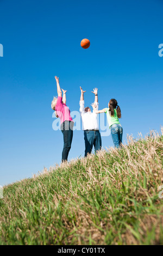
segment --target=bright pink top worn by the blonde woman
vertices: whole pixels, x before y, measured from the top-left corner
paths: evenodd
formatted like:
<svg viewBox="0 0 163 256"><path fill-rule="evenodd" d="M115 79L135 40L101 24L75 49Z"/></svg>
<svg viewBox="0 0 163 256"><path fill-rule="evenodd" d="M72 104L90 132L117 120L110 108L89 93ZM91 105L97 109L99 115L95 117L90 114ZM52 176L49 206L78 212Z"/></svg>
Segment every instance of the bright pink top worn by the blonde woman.
<svg viewBox="0 0 163 256"><path fill-rule="evenodd" d="M70 115L70 109L62 102L62 97L58 96L57 104L55 106L55 111L60 118L60 124L64 121L73 121Z"/></svg>

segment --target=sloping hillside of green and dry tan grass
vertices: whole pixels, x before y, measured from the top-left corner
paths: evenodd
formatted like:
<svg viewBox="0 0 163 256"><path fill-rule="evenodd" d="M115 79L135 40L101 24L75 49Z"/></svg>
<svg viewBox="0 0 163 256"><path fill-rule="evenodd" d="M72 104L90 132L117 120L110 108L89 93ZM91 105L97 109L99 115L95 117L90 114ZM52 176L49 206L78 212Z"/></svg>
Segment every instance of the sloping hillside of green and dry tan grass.
<svg viewBox="0 0 163 256"><path fill-rule="evenodd" d="M5 186L0 244L163 244L162 149L162 135L129 137L121 150Z"/></svg>

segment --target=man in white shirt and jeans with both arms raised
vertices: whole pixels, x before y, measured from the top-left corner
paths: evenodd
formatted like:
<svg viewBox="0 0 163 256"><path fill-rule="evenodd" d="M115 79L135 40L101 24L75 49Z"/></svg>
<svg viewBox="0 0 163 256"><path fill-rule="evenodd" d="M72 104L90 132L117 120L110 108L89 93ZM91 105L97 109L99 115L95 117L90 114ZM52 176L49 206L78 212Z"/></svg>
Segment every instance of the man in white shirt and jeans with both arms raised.
<svg viewBox="0 0 163 256"><path fill-rule="evenodd" d="M101 149L102 140L101 134L99 132L99 125L97 120L97 114L89 107L84 107L84 91L80 87L81 96L80 96L80 115L82 118L82 126L84 130L84 141L85 141L85 157L87 154L91 154L93 146L95 147L95 153ZM93 94L95 94L95 106L98 109L98 88L93 89Z"/></svg>

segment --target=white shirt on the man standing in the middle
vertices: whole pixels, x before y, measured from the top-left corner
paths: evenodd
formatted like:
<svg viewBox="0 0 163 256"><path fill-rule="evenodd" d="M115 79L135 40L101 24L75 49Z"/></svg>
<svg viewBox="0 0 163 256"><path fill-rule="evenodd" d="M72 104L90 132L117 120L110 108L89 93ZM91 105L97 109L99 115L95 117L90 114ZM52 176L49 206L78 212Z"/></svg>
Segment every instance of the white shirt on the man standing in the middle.
<svg viewBox="0 0 163 256"><path fill-rule="evenodd" d="M99 103L95 101L96 109L98 110ZM93 112L84 111L84 100L79 102L80 115L82 117L82 129L83 130L99 130L97 114Z"/></svg>

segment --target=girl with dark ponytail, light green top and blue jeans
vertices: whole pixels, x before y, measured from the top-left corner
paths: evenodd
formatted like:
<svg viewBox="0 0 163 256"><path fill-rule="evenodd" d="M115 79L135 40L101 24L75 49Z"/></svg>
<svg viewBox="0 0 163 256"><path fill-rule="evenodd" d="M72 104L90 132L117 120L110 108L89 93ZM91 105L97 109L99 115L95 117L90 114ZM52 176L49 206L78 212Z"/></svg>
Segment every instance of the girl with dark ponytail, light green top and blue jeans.
<svg viewBox="0 0 163 256"><path fill-rule="evenodd" d="M106 113L108 119L109 128L111 129L111 137L116 148L120 148L122 144L123 128L118 120L121 118L121 108L118 106L118 102L115 99L111 99L108 104L108 108L102 110L96 110L94 103L91 105L96 114Z"/></svg>

